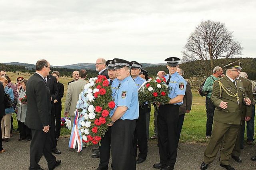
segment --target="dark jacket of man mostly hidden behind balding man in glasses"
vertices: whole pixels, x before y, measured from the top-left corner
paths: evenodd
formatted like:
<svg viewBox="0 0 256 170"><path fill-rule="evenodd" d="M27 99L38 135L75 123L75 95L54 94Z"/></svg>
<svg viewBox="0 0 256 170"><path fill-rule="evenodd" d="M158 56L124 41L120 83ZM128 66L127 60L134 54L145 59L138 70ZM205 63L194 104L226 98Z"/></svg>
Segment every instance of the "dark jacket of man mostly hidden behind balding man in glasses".
<svg viewBox="0 0 256 170"><path fill-rule="evenodd" d="M57 79L53 75L48 75L47 76L47 85L50 89L50 94L52 97L52 115L55 115L55 109L54 109L54 103L53 101L58 97L59 91L57 87Z"/></svg>

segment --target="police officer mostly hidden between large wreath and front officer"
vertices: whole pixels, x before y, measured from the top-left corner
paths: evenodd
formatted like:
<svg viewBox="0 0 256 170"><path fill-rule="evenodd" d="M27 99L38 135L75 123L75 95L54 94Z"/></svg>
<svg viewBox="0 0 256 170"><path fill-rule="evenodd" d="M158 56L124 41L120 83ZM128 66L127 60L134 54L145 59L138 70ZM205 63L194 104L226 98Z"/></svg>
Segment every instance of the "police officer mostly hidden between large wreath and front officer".
<svg viewBox="0 0 256 170"><path fill-rule="evenodd" d="M116 93L118 89L118 85L120 81L116 78L116 74L114 71L114 63L112 60L106 61L107 70L108 70L108 81L109 86L112 89L112 98L114 98L114 94ZM113 115L113 112L110 111L110 115ZM108 163L109 163L109 157L110 157L110 142L111 142L111 127L108 128L108 131L106 134L102 137L102 140L100 142L100 152L96 154L100 154L100 164L97 170L107 170L108 169ZM96 155L95 154L95 155Z"/></svg>

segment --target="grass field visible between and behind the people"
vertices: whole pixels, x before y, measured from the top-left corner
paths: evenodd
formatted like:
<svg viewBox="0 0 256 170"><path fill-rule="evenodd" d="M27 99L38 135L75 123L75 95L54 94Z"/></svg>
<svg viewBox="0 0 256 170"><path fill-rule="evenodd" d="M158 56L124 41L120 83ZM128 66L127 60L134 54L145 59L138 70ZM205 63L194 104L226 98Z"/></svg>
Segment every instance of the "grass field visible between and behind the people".
<svg viewBox="0 0 256 170"><path fill-rule="evenodd" d="M16 83L17 77L24 77L28 79L31 75L27 73L7 73L13 83ZM64 105L66 100L66 91L68 81L71 81L72 78L60 77L60 83L64 84L64 97L62 98L62 117L64 117ZM184 125L181 132L180 142L200 142L206 143L208 139L205 138L206 130L206 109L205 109L205 97L201 97L197 91L193 91L193 103L192 110L190 113L186 114ZM151 107L150 115L150 136L154 134L154 107ZM16 119L16 116L13 115L13 118ZM14 121L14 128L17 128L17 121ZM256 130L256 128L255 128ZM68 137L70 135L70 130L62 128L61 136Z"/></svg>

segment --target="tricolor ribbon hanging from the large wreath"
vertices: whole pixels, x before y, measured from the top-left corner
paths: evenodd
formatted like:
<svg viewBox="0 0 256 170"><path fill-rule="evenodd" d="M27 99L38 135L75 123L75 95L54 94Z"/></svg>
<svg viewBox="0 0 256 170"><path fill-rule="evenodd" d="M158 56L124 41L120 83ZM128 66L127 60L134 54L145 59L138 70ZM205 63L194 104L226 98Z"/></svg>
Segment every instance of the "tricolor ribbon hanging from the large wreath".
<svg viewBox="0 0 256 170"><path fill-rule="evenodd" d="M79 119L80 117L78 118L78 109L76 109L76 115L74 118L73 128L71 131L68 147L75 149L77 144L77 152L80 152L83 148L81 131L78 129Z"/></svg>

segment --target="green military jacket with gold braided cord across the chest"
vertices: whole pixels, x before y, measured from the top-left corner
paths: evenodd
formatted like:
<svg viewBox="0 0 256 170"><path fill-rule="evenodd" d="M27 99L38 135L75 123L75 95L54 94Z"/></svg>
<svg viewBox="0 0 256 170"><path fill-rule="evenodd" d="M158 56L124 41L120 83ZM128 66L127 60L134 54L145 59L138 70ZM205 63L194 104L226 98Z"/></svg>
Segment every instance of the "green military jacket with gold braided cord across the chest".
<svg viewBox="0 0 256 170"><path fill-rule="evenodd" d="M220 123L228 123L233 125L242 125L241 109L243 98L248 98L245 94L245 89L242 81L235 80L236 86L225 75L225 77L214 81L211 101L216 107L213 120ZM222 85L220 85L222 84ZM238 94L238 98L235 95ZM228 108L220 108L220 102L228 102Z"/></svg>

